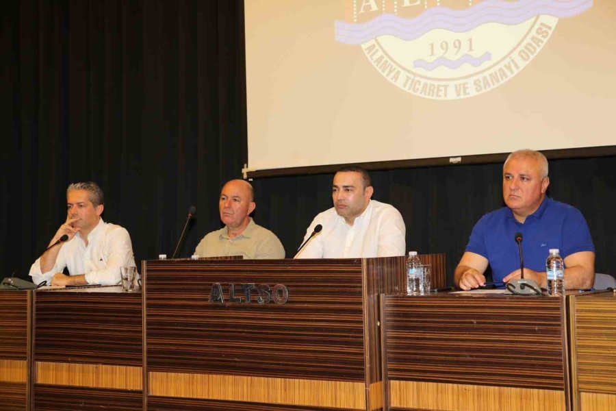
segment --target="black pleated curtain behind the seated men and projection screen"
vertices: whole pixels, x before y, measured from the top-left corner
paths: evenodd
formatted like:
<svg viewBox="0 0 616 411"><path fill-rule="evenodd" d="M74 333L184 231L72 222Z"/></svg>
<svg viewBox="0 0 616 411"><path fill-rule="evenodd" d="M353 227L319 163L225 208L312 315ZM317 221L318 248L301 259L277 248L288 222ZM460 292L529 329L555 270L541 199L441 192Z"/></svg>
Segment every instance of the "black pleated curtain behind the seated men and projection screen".
<svg viewBox="0 0 616 411"><path fill-rule="evenodd" d="M180 252L190 256L220 227L220 186L246 159L243 1L23 0L0 13L0 277L27 275L66 218L66 186L88 179L137 260L170 255L196 206ZM374 171L374 199L402 212L407 249L447 254L451 277L474 223L502 206L501 169ZM613 156L550 162L548 193L585 214L606 273L616 272L614 170ZM253 182L255 219L287 257L331 207L331 178Z"/></svg>

